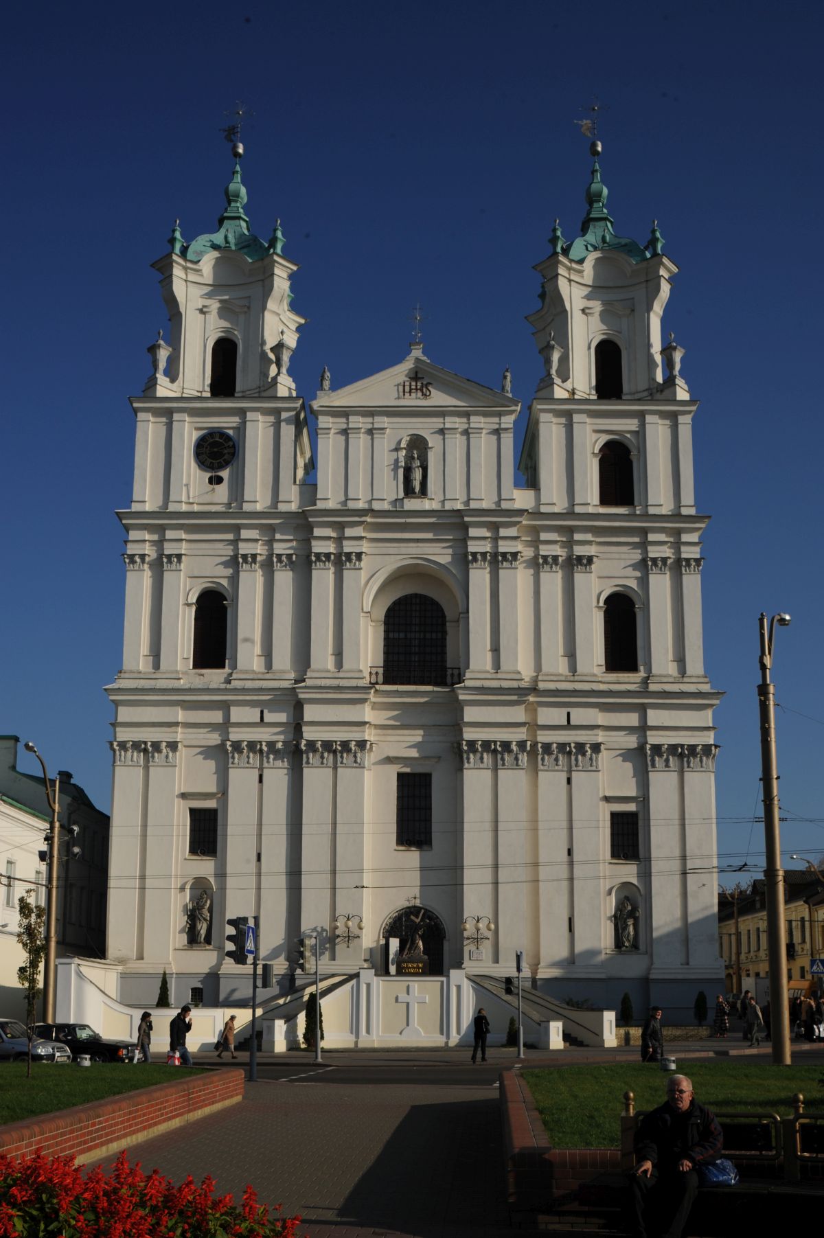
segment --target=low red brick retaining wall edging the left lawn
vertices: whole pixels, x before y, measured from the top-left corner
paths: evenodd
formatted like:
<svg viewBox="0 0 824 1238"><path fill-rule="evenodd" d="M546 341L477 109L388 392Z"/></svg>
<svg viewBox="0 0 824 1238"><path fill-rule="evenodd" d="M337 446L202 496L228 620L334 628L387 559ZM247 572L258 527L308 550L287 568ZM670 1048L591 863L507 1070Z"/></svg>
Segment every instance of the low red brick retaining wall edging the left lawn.
<svg viewBox="0 0 824 1238"><path fill-rule="evenodd" d="M41 1149L48 1156L73 1153L79 1161L99 1160L242 1099L240 1070L189 1075L178 1068L174 1076L168 1083L11 1122L0 1127L0 1153L19 1156Z"/></svg>

